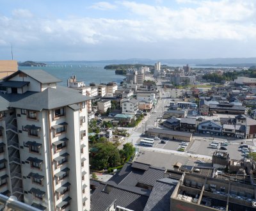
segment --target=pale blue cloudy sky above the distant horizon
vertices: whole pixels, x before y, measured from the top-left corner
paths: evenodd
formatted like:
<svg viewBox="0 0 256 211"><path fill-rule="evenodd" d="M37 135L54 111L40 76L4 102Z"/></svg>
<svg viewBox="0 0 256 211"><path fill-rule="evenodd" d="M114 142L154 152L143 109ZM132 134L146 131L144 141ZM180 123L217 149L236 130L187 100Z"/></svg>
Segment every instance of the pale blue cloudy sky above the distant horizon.
<svg viewBox="0 0 256 211"><path fill-rule="evenodd" d="M0 0L0 59L256 57L254 0Z"/></svg>

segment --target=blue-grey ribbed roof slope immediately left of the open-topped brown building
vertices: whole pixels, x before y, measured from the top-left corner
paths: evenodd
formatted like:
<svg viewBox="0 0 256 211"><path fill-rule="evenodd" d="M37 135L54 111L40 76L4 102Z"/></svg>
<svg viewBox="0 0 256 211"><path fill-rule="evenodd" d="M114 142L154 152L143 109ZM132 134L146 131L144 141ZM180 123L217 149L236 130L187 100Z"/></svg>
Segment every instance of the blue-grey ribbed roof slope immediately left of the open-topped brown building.
<svg viewBox="0 0 256 211"><path fill-rule="evenodd" d="M178 181L170 178L157 180L144 211L170 211L170 198Z"/></svg>

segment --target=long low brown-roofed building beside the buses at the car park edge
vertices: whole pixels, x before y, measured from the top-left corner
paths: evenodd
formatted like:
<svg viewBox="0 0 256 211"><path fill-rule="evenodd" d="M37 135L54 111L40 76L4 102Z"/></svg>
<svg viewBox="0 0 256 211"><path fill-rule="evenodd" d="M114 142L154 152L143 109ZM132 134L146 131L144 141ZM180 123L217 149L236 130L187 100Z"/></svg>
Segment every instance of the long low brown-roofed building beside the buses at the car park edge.
<svg viewBox="0 0 256 211"><path fill-rule="evenodd" d="M160 137L161 139L170 139L178 141L191 141L192 134L189 132L180 132L175 130L148 129L145 132L149 137Z"/></svg>

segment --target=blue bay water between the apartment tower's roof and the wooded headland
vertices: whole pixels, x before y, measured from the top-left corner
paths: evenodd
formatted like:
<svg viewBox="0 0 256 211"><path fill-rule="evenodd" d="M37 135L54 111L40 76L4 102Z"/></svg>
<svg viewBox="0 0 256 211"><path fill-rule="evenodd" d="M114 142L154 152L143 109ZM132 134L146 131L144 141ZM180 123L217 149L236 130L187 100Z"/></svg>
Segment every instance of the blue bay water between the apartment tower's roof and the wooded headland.
<svg viewBox="0 0 256 211"><path fill-rule="evenodd" d="M116 75L115 70L106 70L104 66L109 64L103 63L47 63L47 66L19 66L19 70L44 70L54 75L62 82L60 86L67 86L67 79L76 75L77 81L83 81L86 86L90 82L95 84L117 82L120 84L125 78L124 75Z"/></svg>

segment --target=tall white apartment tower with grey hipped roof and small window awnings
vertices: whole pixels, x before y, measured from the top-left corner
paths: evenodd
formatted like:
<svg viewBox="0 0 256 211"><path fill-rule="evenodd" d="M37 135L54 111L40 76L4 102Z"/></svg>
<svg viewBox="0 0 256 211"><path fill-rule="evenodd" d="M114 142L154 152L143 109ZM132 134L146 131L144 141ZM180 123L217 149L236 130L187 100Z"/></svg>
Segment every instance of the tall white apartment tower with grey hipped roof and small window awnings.
<svg viewBox="0 0 256 211"><path fill-rule="evenodd" d="M42 70L0 82L0 192L40 210L90 210L88 97Z"/></svg>

